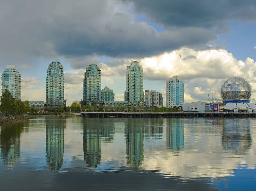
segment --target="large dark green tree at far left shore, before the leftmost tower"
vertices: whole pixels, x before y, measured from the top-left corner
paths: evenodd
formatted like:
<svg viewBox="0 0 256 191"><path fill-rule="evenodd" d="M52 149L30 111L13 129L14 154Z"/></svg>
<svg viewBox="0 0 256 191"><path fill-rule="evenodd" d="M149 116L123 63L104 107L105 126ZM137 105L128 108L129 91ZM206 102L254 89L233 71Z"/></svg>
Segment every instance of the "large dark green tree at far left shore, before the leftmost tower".
<svg viewBox="0 0 256 191"><path fill-rule="evenodd" d="M16 101L9 90L2 93L0 107L4 114L14 114L16 112Z"/></svg>

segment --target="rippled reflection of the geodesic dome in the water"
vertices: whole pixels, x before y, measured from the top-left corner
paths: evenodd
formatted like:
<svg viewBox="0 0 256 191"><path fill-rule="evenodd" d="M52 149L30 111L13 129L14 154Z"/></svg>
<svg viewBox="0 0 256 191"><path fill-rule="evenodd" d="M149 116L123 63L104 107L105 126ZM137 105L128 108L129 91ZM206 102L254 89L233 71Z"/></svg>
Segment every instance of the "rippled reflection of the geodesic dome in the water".
<svg viewBox="0 0 256 191"><path fill-rule="evenodd" d="M232 154L248 152L252 144L250 120L225 119L222 129L222 147Z"/></svg>

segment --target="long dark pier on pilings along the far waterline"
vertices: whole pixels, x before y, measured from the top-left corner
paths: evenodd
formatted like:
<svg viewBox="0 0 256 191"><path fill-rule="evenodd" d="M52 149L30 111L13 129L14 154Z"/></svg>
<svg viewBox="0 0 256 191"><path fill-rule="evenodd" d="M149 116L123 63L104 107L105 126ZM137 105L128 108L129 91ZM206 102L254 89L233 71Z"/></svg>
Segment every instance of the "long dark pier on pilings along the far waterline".
<svg viewBox="0 0 256 191"><path fill-rule="evenodd" d="M256 112L81 112L84 118L256 117Z"/></svg>

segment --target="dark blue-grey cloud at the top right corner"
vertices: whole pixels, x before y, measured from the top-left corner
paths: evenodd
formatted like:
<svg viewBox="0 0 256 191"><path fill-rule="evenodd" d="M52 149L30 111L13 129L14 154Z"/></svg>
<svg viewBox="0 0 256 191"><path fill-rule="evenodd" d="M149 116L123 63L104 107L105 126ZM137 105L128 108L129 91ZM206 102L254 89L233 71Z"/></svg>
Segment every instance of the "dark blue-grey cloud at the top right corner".
<svg viewBox="0 0 256 191"><path fill-rule="evenodd" d="M165 27L223 27L226 21L256 21L255 0L122 0Z"/></svg>

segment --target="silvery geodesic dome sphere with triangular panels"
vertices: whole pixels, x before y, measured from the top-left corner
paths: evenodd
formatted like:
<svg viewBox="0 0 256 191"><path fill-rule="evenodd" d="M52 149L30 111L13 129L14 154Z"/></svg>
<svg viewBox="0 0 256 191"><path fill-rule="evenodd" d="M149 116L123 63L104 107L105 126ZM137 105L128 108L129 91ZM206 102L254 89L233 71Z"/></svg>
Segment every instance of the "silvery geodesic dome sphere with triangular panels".
<svg viewBox="0 0 256 191"><path fill-rule="evenodd" d="M252 88L242 77L231 77L221 86L221 97L226 100L250 100Z"/></svg>

